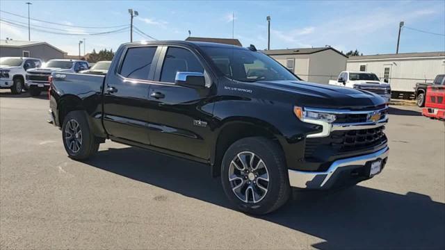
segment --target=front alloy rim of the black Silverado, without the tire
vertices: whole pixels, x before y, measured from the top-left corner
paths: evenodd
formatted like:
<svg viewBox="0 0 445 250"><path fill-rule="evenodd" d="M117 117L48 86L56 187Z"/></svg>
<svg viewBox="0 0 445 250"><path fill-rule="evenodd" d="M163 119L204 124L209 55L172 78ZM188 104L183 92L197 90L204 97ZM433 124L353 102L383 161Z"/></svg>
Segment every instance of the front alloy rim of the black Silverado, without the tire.
<svg viewBox="0 0 445 250"><path fill-rule="evenodd" d="M232 191L245 203L258 203L268 192L269 173L259 156L252 152L238 153L229 166Z"/></svg>

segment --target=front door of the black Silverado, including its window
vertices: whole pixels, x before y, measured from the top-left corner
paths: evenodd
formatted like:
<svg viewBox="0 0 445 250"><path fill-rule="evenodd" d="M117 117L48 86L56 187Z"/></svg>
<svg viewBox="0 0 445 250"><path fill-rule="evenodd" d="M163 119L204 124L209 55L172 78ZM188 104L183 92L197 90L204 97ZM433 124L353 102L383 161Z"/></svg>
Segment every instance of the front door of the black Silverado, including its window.
<svg viewBox="0 0 445 250"><path fill-rule="evenodd" d="M152 146L197 158L209 158L210 123L213 103L211 80L206 88L175 84L177 72L204 72L193 51L184 47L163 47L149 100L149 128Z"/></svg>

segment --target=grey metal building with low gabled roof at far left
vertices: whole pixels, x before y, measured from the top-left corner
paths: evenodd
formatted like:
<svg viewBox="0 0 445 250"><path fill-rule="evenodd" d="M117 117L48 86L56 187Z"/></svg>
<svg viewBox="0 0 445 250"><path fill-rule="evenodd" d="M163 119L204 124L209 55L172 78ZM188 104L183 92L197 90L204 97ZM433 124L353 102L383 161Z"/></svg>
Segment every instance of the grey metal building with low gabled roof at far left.
<svg viewBox="0 0 445 250"><path fill-rule="evenodd" d="M0 57L22 56L43 61L64 58L66 52L47 42L0 40Z"/></svg>

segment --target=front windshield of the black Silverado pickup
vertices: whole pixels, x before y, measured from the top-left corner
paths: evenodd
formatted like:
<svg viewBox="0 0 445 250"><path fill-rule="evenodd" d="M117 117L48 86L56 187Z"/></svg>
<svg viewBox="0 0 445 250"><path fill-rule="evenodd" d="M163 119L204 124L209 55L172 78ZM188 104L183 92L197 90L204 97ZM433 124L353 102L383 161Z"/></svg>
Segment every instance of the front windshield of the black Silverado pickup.
<svg viewBox="0 0 445 250"><path fill-rule="evenodd" d="M264 53L237 48L202 47L221 73L236 81L299 79Z"/></svg>

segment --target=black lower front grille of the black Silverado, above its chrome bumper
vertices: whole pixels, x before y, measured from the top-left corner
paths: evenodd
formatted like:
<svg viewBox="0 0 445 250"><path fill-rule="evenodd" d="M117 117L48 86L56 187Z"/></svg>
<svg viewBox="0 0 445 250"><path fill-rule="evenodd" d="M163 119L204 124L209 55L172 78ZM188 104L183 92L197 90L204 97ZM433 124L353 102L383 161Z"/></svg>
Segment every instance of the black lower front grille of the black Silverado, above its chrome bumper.
<svg viewBox="0 0 445 250"><path fill-rule="evenodd" d="M383 133L385 126L350 131L332 131L325 138L307 138L305 158L316 158L325 151L332 151L335 155L351 151L363 151L372 149L386 143L387 138Z"/></svg>

